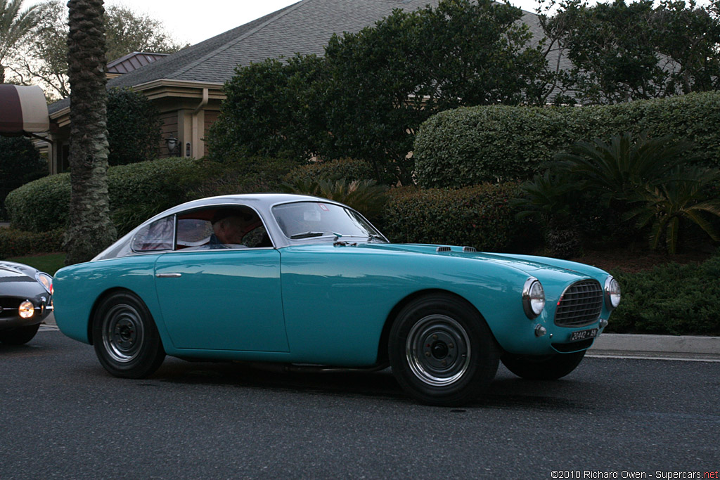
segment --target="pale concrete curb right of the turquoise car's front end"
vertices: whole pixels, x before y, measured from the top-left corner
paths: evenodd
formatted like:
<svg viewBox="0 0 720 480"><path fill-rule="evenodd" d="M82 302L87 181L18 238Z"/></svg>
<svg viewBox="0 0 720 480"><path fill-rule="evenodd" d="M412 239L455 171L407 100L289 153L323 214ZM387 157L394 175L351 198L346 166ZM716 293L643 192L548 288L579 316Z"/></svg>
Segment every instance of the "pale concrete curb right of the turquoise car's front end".
<svg viewBox="0 0 720 480"><path fill-rule="evenodd" d="M720 360L720 337L603 333L588 355Z"/></svg>

